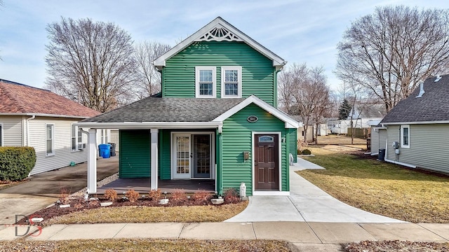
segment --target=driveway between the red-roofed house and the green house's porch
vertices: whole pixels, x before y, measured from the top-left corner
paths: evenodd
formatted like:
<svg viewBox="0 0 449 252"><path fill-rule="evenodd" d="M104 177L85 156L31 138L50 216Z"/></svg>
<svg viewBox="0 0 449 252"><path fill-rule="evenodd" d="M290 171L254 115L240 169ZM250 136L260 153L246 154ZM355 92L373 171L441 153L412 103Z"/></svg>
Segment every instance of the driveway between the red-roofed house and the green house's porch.
<svg viewBox="0 0 449 252"><path fill-rule="evenodd" d="M117 172L119 172L117 156L98 159L98 181ZM84 162L74 167L33 175L25 183L0 190L0 230L4 224L15 223L15 215L28 216L58 200L62 188L69 190L69 193L75 193L85 188L86 184L87 162Z"/></svg>

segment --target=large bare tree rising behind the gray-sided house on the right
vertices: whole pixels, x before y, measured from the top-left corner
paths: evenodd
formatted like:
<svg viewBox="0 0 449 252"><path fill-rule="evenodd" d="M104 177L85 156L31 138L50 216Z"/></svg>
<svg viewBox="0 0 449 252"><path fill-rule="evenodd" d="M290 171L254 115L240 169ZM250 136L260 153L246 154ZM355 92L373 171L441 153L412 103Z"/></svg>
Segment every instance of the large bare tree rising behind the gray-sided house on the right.
<svg viewBox="0 0 449 252"><path fill-rule="evenodd" d="M338 44L337 76L382 99L387 112L449 63L449 11L376 8Z"/></svg>

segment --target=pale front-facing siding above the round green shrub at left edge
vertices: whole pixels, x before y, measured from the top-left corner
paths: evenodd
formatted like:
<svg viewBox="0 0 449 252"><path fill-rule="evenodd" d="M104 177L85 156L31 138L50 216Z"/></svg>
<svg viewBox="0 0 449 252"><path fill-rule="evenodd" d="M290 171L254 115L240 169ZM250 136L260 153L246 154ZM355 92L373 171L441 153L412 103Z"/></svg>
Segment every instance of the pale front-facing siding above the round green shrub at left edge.
<svg viewBox="0 0 449 252"><path fill-rule="evenodd" d="M22 116L0 116L3 146L22 146Z"/></svg>

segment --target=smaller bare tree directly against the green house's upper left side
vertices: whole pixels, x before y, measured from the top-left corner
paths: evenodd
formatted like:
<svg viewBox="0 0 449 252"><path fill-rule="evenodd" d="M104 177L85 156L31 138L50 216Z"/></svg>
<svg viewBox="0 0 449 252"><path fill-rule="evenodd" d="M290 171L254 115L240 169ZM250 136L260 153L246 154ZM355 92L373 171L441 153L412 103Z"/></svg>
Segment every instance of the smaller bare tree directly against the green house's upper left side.
<svg viewBox="0 0 449 252"><path fill-rule="evenodd" d="M161 73L153 65L154 59L170 50L170 45L144 41L135 45L136 78L133 92L138 99L161 91Z"/></svg>

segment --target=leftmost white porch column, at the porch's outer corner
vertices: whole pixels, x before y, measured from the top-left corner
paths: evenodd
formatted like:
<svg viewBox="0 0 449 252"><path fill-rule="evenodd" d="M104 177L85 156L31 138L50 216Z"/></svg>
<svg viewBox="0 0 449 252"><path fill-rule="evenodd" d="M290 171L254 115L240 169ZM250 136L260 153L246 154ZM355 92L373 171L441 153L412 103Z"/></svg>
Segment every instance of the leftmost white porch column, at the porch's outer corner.
<svg viewBox="0 0 449 252"><path fill-rule="evenodd" d="M87 191L97 193L97 130L89 129L87 149Z"/></svg>

